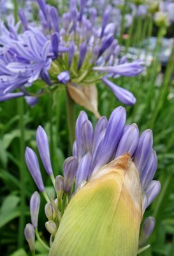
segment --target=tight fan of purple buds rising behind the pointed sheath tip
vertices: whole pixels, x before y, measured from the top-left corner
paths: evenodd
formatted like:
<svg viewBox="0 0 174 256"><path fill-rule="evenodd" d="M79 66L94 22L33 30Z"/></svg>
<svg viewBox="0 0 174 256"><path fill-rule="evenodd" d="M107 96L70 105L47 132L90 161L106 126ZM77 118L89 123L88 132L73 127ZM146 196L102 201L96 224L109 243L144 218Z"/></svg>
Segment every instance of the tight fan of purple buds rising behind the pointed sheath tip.
<svg viewBox="0 0 174 256"><path fill-rule="evenodd" d="M160 183L152 180L157 168L152 131L146 130L139 137L137 125L125 125L125 122L126 111L119 107L108 122L104 116L100 118L93 132L85 112L80 113L73 147L73 156L78 158L76 189L99 168L129 152L140 175L143 209L146 209L161 189Z"/></svg>

